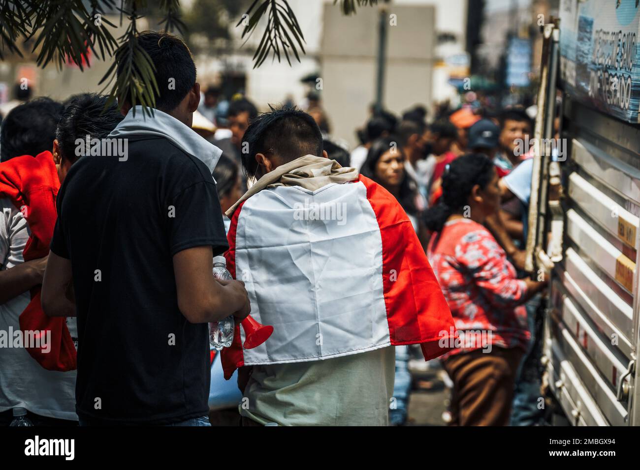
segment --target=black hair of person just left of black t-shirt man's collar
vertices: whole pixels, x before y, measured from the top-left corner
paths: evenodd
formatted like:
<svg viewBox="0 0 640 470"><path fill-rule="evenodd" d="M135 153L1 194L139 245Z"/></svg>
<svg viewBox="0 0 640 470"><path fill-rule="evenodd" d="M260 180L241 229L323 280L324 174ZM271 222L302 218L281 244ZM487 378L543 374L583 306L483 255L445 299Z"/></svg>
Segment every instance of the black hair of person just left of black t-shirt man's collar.
<svg viewBox="0 0 640 470"><path fill-rule="evenodd" d="M116 125L124 119L118 105L105 105L109 97L96 93L81 93L65 101L56 129L56 139L60 156L72 163L79 158L76 155L76 140L86 136L91 139L104 139Z"/></svg>

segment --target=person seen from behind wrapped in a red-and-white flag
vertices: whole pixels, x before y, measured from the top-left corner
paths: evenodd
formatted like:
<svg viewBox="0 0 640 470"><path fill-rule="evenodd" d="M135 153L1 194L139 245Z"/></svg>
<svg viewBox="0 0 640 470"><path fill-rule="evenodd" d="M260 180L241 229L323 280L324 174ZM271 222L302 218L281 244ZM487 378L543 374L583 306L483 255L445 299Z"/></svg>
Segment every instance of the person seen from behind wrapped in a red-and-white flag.
<svg viewBox="0 0 640 470"><path fill-rule="evenodd" d="M412 224L394 197L327 159L315 121L277 109L253 121L243 166L257 182L227 211L227 266L274 333L222 352L242 368L244 425L387 425L394 346L447 352L454 331Z"/></svg>

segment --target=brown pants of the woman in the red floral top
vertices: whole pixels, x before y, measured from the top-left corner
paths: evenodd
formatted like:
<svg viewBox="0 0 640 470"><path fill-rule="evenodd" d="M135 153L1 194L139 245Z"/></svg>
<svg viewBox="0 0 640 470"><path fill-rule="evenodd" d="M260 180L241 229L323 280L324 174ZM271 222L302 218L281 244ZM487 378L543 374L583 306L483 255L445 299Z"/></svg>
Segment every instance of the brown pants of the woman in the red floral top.
<svg viewBox="0 0 640 470"><path fill-rule="evenodd" d="M524 351L493 347L455 354L444 360L453 381L451 426L506 426L518 364Z"/></svg>

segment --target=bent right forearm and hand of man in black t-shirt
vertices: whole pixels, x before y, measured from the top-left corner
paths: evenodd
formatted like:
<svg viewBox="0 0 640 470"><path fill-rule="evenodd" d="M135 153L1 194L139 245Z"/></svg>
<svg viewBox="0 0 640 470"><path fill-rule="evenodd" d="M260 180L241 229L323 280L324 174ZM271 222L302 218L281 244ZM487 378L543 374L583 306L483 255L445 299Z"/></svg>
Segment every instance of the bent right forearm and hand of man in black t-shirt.
<svg viewBox="0 0 640 470"><path fill-rule="evenodd" d="M229 315L244 320L251 312L242 281L213 277L211 246L196 246L173 255L178 308L191 323L217 322Z"/></svg>

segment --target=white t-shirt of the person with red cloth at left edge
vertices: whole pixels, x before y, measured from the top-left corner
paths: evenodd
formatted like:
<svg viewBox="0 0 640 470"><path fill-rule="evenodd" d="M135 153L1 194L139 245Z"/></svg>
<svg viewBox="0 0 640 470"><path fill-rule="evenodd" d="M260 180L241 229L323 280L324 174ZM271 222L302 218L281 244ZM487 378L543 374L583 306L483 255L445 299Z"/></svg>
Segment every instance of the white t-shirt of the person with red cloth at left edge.
<svg viewBox="0 0 640 470"><path fill-rule="evenodd" d="M1 270L24 262L22 251L28 239L28 226L22 213L10 200L0 199ZM0 305L0 331L4 335L20 331L20 313L30 300L29 292L24 292ZM67 327L76 340L76 319L68 318ZM0 411L17 407L40 416L77 421L76 371L46 370L26 349L0 347Z"/></svg>

